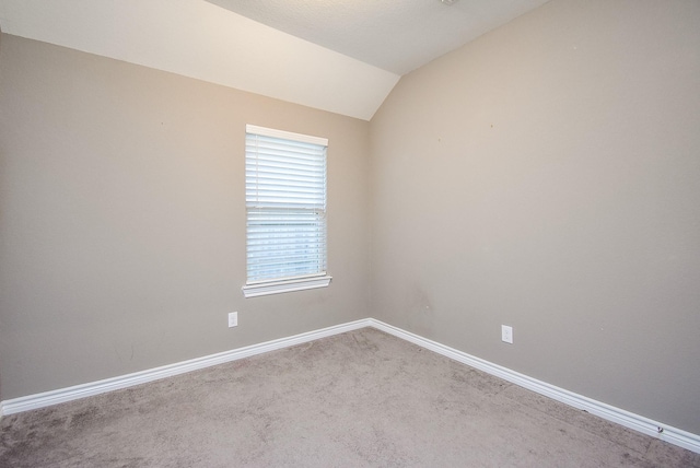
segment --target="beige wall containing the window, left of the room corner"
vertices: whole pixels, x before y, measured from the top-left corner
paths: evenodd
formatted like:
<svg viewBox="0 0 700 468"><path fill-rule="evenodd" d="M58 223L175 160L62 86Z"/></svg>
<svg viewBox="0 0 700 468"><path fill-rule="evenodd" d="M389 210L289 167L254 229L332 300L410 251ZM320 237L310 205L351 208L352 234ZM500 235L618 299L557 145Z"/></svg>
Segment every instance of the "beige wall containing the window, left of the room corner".
<svg viewBox="0 0 700 468"><path fill-rule="evenodd" d="M15 36L0 61L3 399L370 315L369 122ZM329 139L327 289L243 299L246 124Z"/></svg>

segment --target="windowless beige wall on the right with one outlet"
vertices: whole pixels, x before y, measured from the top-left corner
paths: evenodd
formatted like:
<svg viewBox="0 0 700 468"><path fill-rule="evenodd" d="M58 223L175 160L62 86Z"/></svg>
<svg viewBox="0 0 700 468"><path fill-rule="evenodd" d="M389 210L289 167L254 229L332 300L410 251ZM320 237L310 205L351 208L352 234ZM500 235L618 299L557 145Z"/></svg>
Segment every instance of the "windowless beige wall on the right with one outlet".
<svg viewBox="0 0 700 468"><path fill-rule="evenodd" d="M371 128L377 318L699 434L699 24L558 0L404 77Z"/></svg>

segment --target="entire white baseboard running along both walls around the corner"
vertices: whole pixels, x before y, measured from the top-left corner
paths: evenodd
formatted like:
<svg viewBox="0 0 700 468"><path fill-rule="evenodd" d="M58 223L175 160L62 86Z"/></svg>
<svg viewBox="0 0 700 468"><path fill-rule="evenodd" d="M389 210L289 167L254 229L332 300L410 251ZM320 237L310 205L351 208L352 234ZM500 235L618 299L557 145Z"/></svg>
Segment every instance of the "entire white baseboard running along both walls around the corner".
<svg viewBox="0 0 700 468"><path fill-rule="evenodd" d="M330 337L332 335L343 334L346 331L357 330L359 328L373 327L397 338L418 344L430 351L442 354L454 361L470 365L471 367L483 371L488 374L503 378L504 381L520 385L521 387L541 394L546 397L561 401L571 407L586 410L592 414L598 416L608 421L618 423L626 428L641 432L666 441L674 445L687 448L700 454L700 435L692 434L680 429L676 429L649 418L631 413L620 408L606 405L600 401L593 400L579 394L556 387L545 382L538 381L527 375L520 374L510 368L502 367L498 364L472 356L454 348L441 344L439 342L420 337L416 334L402 330L398 327L385 324L374 318L350 321L348 324L337 325L334 327L323 328L320 330L308 331L306 334L295 335L293 337L280 338L278 340L267 341L259 344L253 344L245 348L238 348L203 358L192 359L171 365L164 365L133 374L127 374L119 377L106 378L89 384L75 385L68 388L61 388L51 391L45 391L26 397L13 398L0 402L0 417L3 414L13 414L22 411L44 408L66 401L77 400L80 398L104 394L106 391L127 388L148 382L158 381L160 378L171 377L186 372L209 367L225 362L236 361L255 354L261 354L282 348L301 344L319 338ZM663 430L660 432L660 430Z"/></svg>

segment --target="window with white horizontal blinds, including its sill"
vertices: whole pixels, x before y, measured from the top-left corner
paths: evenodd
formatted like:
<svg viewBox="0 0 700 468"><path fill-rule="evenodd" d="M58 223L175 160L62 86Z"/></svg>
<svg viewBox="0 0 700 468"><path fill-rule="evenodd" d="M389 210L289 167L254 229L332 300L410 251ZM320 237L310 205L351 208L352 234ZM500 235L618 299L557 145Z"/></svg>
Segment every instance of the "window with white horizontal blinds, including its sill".
<svg viewBox="0 0 700 468"><path fill-rule="evenodd" d="M328 140L246 126L246 297L327 286Z"/></svg>

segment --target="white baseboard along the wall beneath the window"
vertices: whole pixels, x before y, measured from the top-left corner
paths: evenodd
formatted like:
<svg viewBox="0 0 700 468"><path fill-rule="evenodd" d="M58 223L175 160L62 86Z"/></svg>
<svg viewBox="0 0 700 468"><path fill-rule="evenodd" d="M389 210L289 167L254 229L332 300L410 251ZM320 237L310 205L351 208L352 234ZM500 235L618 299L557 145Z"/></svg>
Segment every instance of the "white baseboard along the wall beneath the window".
<svg viewBox="0 0 700 468"><path fill-rule="evenodd" d="M231 351L210 354L203 358L197 358L175 364L163 365L161 367L150 368L147 371L135 372L132 374L121 375L118 377L105 378L103 381L74 385L72 387L44 391L25 397L12 398L0 402L0 417L63 403L93 395L118 390L120 388L132 387L135 385L147 384L149 382L158 381L161 378L172 377L212 365L249 358L252 355L261 354L268 351L289 348L295 344L314 341L319 338L330 337L332 335L345 334L346 331L357 330L359 328L364 328L368 326L370 326L369 319L350 321L347 324L327 327L315 331L294 335L288 338L280 338L277 340L266 341L264 343L252 344Z"/></svg>

